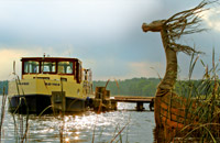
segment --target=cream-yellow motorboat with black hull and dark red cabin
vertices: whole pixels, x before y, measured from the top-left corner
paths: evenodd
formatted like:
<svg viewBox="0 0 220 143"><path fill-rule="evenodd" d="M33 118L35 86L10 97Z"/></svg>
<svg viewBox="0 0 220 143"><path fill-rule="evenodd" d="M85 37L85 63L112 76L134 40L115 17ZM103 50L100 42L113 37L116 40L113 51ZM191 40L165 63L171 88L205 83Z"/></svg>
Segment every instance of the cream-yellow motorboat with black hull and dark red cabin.
<svg viewBox="0 0 220 143"><path fill-rule="evenodd" d="M92 95L91 69L78 58L22 57L21 79L9 82L9 111L82 112Z"/></svg>

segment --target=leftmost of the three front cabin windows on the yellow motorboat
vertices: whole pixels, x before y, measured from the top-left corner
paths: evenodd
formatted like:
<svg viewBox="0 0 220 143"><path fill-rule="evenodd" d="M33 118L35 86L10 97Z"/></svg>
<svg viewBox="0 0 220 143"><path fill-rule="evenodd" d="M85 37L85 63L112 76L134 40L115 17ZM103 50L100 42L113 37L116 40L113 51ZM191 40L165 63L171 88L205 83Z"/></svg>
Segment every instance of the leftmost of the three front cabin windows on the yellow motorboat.
<svg viewBox="0 0 220 143"><path fill-rule="evenodd" d="M38 73L38 62L33 62L33 61L29 61L29 62L24 62L24 73Z"/></svg>

